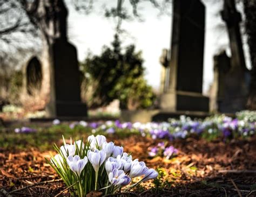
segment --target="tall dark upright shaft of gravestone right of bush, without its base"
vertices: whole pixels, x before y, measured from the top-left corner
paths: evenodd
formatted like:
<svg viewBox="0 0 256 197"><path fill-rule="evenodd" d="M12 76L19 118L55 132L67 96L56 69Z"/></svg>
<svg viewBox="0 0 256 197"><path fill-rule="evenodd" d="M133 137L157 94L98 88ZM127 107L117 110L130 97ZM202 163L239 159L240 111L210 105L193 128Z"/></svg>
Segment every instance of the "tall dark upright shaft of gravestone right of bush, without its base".
<svg viewBox="0 0 256 197"><path fill-rule="evenodd" d="M205 6L199 0L174 0L173 13L169 88L201 93Z"/></svg>

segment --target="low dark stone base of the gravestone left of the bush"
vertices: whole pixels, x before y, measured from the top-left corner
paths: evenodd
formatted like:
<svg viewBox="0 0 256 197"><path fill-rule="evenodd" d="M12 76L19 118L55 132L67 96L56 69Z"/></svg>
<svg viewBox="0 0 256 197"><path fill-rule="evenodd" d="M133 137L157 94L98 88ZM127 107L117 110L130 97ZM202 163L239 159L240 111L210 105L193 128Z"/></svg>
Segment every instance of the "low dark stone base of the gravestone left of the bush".
<svg viewBox="0 0 256 197"><path fill-rule="evenodd" d="M63 102L49 104L46 110L47 117L86 117L87 107L84 103Z"/></svg>

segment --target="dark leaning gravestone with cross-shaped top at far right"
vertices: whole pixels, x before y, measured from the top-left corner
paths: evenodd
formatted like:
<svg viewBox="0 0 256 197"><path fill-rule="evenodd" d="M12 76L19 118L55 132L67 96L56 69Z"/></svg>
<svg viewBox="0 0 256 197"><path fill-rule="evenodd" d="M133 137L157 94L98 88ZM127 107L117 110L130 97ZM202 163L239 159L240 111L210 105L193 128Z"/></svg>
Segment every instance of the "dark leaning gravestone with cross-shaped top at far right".
<svg viewBox="0 0 256 197"><path fill-rule="evenodd" d="M224 90L218 90L218 92L223 92L218 102L218 110L220 112L236 112L246 107L250 74L246 68L244 52L242 50L239 27L241 15L235 8L234 0L224 1L224 9L221 11L221 16L226 22L230 38L231 66L227 73L222 71L225 69L225 65L222 65L224 68L219 68L219 73L223 73L225 77L223 81L220 81L222 83L220 86Z"/></svg>

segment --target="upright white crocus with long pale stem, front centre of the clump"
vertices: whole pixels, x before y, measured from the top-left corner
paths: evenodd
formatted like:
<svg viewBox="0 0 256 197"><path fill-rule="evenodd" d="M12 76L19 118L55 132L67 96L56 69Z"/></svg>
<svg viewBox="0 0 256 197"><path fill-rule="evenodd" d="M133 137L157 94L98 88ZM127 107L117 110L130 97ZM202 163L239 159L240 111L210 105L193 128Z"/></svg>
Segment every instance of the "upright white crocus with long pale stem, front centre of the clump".
<svg viewBox="0 0 256 197"><path fill-rule="evenodd" d="M96 149L94 152L88 151L87 157L92 164L95 172L98 172L99 167L104 163L106 159L106 153L104 150L99 151L98 149Z"/></svg>

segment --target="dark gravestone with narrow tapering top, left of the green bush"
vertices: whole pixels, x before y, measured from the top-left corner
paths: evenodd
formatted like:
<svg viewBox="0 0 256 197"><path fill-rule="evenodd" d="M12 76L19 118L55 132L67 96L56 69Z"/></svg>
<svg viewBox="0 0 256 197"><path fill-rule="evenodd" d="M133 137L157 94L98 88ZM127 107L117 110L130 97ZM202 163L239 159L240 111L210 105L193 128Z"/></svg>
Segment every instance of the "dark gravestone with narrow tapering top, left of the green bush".
<svg viewBox="0 0 256 197"><path fill-rule="evenodd" d="M64 2L58 1L55 25L59 35L50 44L50 102L47 114L50 117L87 116L86 104L80 98L80 74L77 51L68 42L66 35L66 10Z"/></svg>

